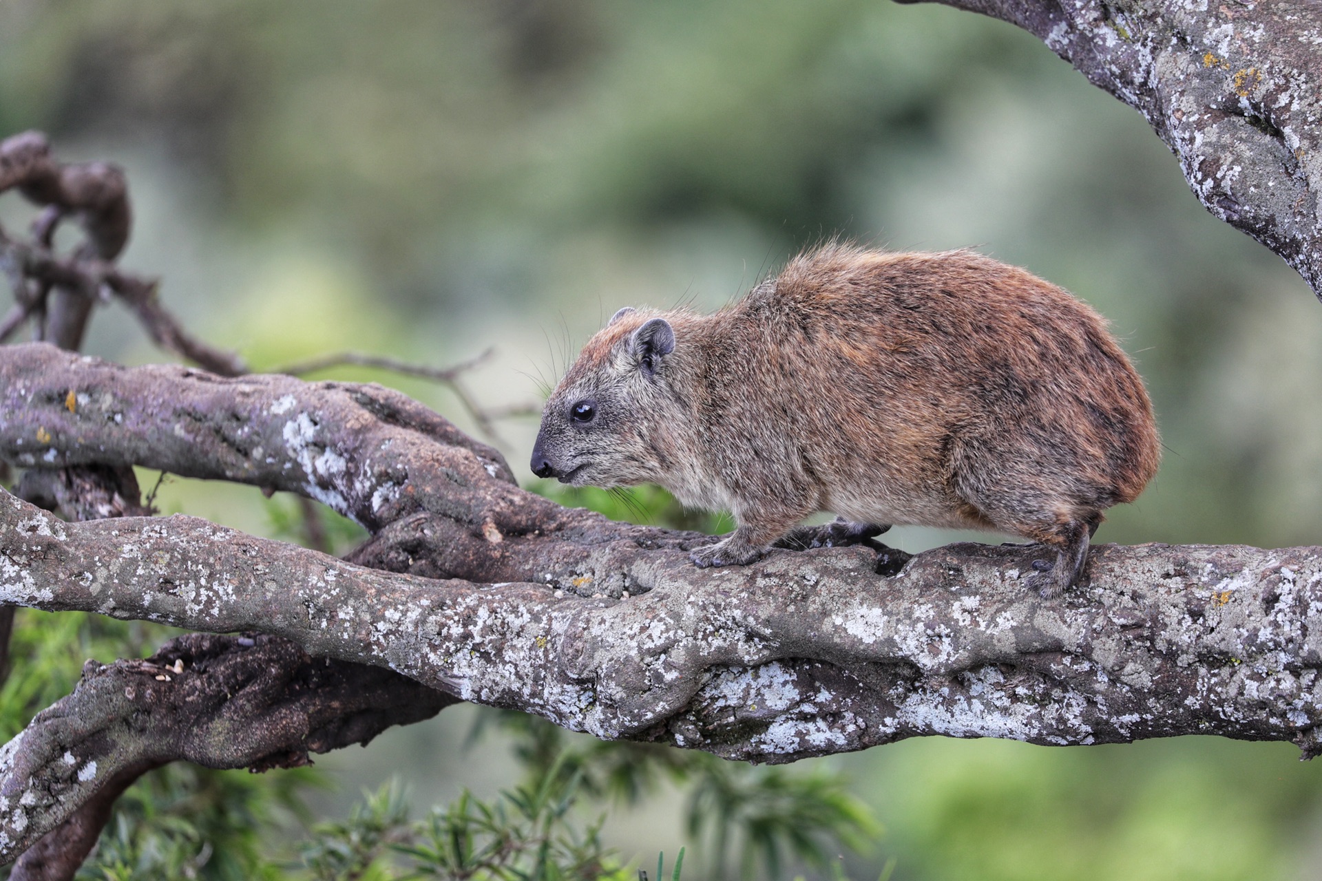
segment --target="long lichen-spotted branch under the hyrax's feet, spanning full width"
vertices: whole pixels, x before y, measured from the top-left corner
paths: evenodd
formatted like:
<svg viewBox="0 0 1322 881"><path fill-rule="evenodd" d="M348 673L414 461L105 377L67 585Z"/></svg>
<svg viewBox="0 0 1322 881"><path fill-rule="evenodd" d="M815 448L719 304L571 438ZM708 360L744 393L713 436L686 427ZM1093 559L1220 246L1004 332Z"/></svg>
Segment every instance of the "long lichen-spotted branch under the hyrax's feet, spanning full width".
<svg viewBox="0 0 1322 881"><path fill-rule="evenodd" d="M635 548L642 593L612 600L364 569L193 518L0 509L7 602L260 627L604 738L758 761L935 733L1311 750L1322 720L1322 548L1100 546L1067 602L1025 590L1021 547L940 548L891 579L865 548L714 573Z"/></svg>

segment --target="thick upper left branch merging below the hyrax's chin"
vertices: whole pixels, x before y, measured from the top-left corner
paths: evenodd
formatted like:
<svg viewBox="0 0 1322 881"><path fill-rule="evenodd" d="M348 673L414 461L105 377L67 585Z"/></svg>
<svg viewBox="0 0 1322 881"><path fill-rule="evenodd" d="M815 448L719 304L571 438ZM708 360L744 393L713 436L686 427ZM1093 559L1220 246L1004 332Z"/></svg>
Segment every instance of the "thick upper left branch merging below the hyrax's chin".
<svg viewBox="0 0 1322 881"><path fill-rule="evenodd" d="M360 563L427 576L534 580L568 563L562 534L587 547L702 540L525 493L497 450L381 386L128 370L44 345L0 350L0 458L132 464L299 493L377 532ZM591 592L627 588L620 567L602 565Z"/></svg>

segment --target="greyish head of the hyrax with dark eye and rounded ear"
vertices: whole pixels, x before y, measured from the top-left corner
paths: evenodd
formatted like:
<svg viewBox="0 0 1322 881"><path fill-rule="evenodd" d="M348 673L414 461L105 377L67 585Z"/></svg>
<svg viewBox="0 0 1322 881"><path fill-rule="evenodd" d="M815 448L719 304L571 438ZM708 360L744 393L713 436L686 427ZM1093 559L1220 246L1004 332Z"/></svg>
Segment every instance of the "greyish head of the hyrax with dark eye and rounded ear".
<svg viewBox="0 0 1322 881"><path fill-rule="evenodd" d="M668 384L673 353L669 321L616 312L547 399L533 473L574 486L658 481L665 424L678 415Z"/></svg>

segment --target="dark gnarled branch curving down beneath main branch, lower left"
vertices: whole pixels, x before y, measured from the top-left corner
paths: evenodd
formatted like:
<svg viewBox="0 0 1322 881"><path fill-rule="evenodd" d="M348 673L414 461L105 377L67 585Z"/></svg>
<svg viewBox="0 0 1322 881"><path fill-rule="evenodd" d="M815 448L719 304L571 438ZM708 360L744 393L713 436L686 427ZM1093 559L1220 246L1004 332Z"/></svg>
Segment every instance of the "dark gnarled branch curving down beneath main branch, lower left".
<svg viewBox="0 0 1322 881"><path fill-rule="evenodd" d="M452 697L286 639L189 634L145 660L87 662L78 689L0 750L0 860L71 877L110 806L152 767L292 767L435 716Z"/></svg>

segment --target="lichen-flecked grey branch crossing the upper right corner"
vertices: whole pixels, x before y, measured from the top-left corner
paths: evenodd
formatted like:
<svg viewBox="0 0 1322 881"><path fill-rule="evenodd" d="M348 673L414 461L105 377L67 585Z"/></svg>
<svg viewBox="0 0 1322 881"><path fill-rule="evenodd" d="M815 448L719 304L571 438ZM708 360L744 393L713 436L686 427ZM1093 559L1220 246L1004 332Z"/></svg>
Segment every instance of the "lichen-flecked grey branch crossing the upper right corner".
<svg viewBox="0 0 1322 881"><path fill-rule="evenodd" d="M1315 0L936 1L1031 32L1138 110L1207 210L1285 258L1322 297Z"/></svg>

